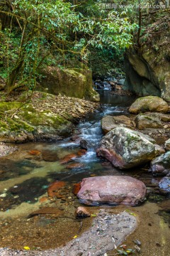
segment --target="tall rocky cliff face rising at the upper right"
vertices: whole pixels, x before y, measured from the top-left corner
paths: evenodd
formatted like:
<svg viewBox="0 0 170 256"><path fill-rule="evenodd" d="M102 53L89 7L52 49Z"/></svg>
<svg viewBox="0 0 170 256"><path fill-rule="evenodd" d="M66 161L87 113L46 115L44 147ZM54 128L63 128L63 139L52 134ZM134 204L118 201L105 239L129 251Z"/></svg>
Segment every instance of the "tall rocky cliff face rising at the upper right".
<svg viewBox="0 0 170 256"><path fill-rule="evenodd" d="M141 46L125 57L125 85L139 96L170 102L170 11L149 14ZM146 25L145 25L146 26Z"/></svg>

